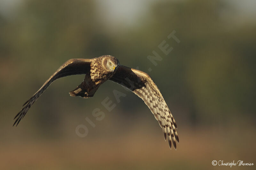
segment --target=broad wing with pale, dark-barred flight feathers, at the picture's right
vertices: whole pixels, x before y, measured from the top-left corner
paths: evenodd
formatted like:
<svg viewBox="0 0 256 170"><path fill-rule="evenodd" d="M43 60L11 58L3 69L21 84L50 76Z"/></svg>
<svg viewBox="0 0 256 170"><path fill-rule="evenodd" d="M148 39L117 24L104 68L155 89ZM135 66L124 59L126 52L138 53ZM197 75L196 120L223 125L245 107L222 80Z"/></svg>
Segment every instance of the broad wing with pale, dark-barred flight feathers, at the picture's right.
<svg viewBox="0 0 256 170"><path fill-rule="evenodd" d="M130 89L145 102L163 129L165 140L167 136L170 149L173 143L176 150L176 141L179 142L177 124L150 76L140 70L120 65L110 80Z"/></svg>

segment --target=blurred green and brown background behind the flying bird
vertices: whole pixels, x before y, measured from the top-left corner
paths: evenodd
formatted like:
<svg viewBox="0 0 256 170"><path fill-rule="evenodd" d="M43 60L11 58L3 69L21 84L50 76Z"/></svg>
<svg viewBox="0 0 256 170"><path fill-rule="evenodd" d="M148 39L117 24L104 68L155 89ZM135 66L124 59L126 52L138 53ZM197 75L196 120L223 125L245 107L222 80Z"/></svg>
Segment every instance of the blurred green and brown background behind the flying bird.
<svg viewBox="0 0 256 170"><path fill-rule="evenodd" d="M256 164L255 16L254 0L1 0L0 169ZM172 31L180 43L167 38ZM158 48L162 41L173 48L168 55ZM162 57L157 66L147 58L152 51ZM107 54L153 78L178 124L177 151L144 102L122 86L109 81L91 99L70 97L84 75L54 82L12 127L22 104L61 64ZM117 103L113 90L127 96ZM106 97L116 104L111 112L101 104ZM103 120L93 117L95 108ZM76 133L81 124L86 137ZM241 168L255 165L232 167Z"/></svg>

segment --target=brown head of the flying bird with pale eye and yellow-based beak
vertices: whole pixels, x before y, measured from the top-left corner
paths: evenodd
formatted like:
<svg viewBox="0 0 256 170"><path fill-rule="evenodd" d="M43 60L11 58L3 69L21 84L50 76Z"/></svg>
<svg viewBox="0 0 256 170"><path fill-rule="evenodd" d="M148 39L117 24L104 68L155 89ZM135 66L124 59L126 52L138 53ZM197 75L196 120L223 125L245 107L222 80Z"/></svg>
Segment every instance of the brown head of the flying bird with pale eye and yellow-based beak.
<svg viewBox="0 0 256 170"><path fill-rule="evenodd" d="M105 55L102 64L107 71L114 72L119 66L119 61L111 55Z"/></svg>

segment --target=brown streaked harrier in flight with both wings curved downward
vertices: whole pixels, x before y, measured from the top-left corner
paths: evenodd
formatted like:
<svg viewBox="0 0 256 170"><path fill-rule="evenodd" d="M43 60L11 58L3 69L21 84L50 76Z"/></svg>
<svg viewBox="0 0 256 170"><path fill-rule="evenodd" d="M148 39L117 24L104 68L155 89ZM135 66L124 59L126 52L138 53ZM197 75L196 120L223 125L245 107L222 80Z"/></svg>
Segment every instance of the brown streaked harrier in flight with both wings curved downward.
<svg viewBox="0 0 256 170"><path fill-rule="evenodd" d="M160 127L163 129L164 140L168 140L170 149L172 144L176 150L176 141L179 142L177 124L164 98L150 76L140 70L125 67L111 55L103 55L92 59L70 59L42 85L42 87L23 105L20 112L14 117L13 126L28 112L38 97L58 78L85 74L84 81L69 92L70 96L91 98L99 86L107 80L116 82L128 88L139 96L154 114Z"/></svg>

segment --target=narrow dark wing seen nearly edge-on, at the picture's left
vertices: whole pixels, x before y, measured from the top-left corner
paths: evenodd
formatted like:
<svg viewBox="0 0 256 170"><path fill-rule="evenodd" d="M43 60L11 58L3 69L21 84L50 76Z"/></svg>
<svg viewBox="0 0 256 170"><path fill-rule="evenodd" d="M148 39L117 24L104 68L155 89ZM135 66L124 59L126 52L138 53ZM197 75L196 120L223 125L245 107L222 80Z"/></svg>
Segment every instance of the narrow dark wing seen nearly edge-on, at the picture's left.
<svg viewBox="0 0 256 170"><path fill-rule="evenodd" d="M42 85L42 87L23 105L20 112L14 117L15 122L13 126L19 124L20 120L26 115L28 109L33 105L37 98L58 78L86 74L90 71L91 62L93 59L70 59L64 63L60 68Z"/></svg>

